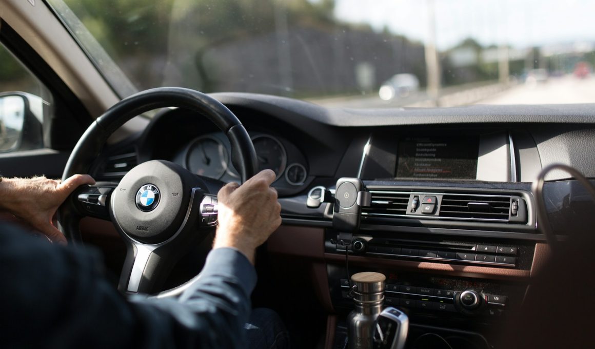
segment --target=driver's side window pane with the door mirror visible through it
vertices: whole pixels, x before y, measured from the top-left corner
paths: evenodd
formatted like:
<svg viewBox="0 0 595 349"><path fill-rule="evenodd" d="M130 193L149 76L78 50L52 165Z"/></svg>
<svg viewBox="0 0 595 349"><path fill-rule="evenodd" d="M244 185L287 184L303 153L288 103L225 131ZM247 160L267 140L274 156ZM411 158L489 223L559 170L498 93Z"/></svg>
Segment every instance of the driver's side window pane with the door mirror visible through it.
<svg viewBox="0 0 595 349"><path fill-rule="evenodd" d="M0 44L0 153L43 148L48 89Z"/></svg>

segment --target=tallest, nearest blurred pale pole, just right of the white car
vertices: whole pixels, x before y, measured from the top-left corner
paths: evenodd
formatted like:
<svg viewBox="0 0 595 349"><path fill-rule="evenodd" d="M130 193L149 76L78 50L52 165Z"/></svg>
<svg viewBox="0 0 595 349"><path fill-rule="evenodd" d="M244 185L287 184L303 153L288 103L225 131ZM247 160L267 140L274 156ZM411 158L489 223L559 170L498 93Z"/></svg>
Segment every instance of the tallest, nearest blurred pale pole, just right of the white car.
<svg viewBox="0 0 595 349"><path fill-rule="evenodd" d="M436 52L436 3L426 0L428 7L428 38L425 41L425 72L427 75L427 94L438 105L440 96L440 62Z"/></svg>

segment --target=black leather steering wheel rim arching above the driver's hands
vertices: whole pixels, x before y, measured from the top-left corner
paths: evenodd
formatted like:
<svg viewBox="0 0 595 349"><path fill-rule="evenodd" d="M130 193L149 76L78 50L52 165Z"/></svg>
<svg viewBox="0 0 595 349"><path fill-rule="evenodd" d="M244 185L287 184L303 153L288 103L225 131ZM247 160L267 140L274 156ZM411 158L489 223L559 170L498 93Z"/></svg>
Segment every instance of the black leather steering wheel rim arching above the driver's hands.
<svg viewBox="0 0 595 349"><path fill-rule="evenodd" d="M105 142L124 123L147 111L177 107L195 111L211 120L230 141L231 163L242 182L256 174L258 160L252 140L240 120L221 102L201 92L176 87L154 88L129 96L109 108L83 133L68 158L62 180L77 173L88 173ZM70 201L70 200L67 200ZM58 222L71 241L80 240L80 216L71 205L58 210Z"/></svg>

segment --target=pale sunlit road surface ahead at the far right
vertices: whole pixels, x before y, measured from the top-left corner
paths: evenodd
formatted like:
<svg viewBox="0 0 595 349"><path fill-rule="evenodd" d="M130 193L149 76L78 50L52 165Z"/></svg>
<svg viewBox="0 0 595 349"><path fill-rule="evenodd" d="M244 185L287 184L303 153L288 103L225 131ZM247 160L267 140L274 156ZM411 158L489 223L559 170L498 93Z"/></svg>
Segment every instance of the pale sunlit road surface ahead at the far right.
<svg viewBox="0 0 595 349"><path fill-rule="evenodd" d="M595 103L595 77L550 77L537 85L519 84L476 104L569 104Z"/></svg>

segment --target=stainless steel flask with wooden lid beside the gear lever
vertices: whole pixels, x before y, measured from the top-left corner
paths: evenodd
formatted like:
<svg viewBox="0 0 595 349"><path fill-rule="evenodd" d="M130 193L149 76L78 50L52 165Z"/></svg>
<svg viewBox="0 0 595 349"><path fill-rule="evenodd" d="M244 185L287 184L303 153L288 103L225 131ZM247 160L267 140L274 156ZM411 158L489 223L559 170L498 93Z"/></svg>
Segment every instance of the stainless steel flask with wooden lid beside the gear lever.
<svg viewBox="0 0 595 349"><path fill-rule="evenodd" d="M364 272L351 276L355 309L347 316L349 349L372 349L375 323L384 303L384 281L381 273Z"/></svg>

